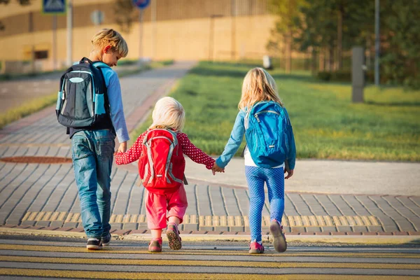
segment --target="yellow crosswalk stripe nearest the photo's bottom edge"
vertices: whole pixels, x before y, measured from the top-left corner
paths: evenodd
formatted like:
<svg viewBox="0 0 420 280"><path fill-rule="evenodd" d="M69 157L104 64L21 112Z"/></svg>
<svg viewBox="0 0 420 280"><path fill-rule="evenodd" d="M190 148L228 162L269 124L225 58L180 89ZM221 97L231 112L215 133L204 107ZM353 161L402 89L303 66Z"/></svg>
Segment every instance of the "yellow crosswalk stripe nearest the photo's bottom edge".
<svg viewBox="0 0 420 280"><path fill-rule="evenodd" d="M220 279L220 280L244 280L244 279L302 279L313 280L313 274L221 274L221 273L152 273L152 272L100 272L100 271L73 271L59 269L21 269L2 268L0 275L8 276L38 276L38 277L66 277L72 279ZM316 274L319 280L418 280L418 276L377 276L377 275L336 275Z"/></svg>

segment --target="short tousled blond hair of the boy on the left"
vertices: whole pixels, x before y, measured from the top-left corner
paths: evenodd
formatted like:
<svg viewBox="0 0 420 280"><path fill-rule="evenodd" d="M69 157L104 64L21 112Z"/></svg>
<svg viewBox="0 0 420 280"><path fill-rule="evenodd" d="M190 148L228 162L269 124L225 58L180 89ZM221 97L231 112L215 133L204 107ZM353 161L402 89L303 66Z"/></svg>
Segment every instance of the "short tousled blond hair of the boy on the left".
<svg viewBox="0 0 420 280"><path fill-rule="evenodd" d="M114 29L102 29L92 37L92 45L94 48L104 48L111 45L111 50L118 52L122 57L128 54L128 45L123 36Z"/></svg>

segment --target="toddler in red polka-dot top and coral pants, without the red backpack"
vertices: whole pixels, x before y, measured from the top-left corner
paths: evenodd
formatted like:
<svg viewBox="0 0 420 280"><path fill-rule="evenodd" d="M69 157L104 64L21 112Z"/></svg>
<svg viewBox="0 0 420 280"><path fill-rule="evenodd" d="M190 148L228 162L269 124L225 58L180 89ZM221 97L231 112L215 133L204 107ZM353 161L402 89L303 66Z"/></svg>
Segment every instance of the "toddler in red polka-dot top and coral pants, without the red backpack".
<svg viewBox="0 0 420 280"><path fill-rule="evenodd" d="M176 132L176 139L181 145L182 152L188 155L191 160L206 165L207 169L214 166L214 159L194 146L187 135L181 132L185 123L185 111L183 106L174 98L163 97L160 99L155 105L152 117L153 124L139 136L130 150L125 153L116 153L117 165L127 165L139 160L142 151L141 146L148 132L154 129L168 129ZM183 163L185 164L185 162ZM162 251L163 228L167 228L169 247L174 250L181 248L178 225L182 223L188 206L186 190L183 184L179 188L169 188L169 190L171 193L162 194L155 188L146 188L146 217L148 228L152 234L148 250L151 252ZM168 225L167 221L169 221Z"/></svg>

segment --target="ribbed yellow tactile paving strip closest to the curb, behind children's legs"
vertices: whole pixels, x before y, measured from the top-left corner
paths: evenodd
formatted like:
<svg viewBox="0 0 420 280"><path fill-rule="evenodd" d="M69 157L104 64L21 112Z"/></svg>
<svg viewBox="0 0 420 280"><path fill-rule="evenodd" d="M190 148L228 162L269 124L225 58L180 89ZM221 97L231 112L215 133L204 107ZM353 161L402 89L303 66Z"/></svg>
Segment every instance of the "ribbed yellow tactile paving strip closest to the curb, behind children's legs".
<svg viewBox="0 0 420 280"><path fill-rule="evenodd" d="M31 212L28 211L22 221L64 221L80 223L79 213L67 212ZM139 214L112 214L110 223L146 223L146 216ZM248 227L248 216L197 216L185 215L184 224L195 224L208 227ZM269 216L262 216L262 226L268 227ZM323 227L379 225L375 216L283 216L283 225L290 227Z"/></svg>

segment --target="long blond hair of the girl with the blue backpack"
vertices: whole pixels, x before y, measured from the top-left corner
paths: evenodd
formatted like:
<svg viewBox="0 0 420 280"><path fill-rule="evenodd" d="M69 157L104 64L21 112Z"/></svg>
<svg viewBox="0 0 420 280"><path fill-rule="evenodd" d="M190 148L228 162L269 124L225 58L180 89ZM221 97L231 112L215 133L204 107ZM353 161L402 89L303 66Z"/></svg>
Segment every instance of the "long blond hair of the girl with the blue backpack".
<svg viewBox="0 0 420 280"><path fill-rule="evenodd" d="M238 108L239 110L250 109L255 103L261 101L274 101L284 106L277 93L274 78L264 69L257 67L246 73Z"/></svg>

